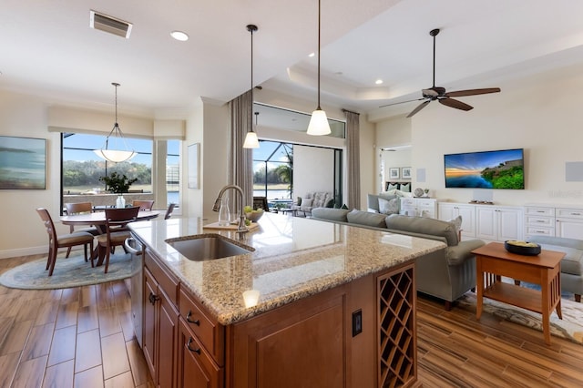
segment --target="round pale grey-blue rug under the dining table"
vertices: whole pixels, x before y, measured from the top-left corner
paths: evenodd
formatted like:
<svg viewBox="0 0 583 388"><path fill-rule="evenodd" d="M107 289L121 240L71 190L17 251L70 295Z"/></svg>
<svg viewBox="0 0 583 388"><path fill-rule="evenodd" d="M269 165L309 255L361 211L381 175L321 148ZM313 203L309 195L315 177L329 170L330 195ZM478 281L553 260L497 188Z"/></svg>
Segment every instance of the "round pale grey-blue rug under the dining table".
<svg viewBox="0 0 583 388"><path fill-rule="evenodd" d="M110 256L107 273L103 266L91 268L83 253L75 252L68 258L64 252L57 256L53 276L48 276L45 269L46 258L29 261L5 271L0 275L0 284L15 289L55 290L118 281L132 275L131 255L123 250Z"/></svg>

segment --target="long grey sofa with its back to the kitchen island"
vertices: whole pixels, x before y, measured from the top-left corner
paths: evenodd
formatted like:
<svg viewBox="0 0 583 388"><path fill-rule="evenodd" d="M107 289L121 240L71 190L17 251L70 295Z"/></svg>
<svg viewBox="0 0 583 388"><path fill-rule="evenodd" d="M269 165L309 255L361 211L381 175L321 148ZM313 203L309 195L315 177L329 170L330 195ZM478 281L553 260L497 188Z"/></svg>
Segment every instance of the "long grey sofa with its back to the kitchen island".
<svg viewBox="0 0 583 388"><path fill-rule="evenodd" d="M484 245L482 240L458 239L454 223L411 217L399 214L389 216L363 210L312 209L312 218L373 230L384 230L445 243L436 250L416 259L417 291L445 301L445 310L470 289L476 287L476 256L472 250Z"/></svg>

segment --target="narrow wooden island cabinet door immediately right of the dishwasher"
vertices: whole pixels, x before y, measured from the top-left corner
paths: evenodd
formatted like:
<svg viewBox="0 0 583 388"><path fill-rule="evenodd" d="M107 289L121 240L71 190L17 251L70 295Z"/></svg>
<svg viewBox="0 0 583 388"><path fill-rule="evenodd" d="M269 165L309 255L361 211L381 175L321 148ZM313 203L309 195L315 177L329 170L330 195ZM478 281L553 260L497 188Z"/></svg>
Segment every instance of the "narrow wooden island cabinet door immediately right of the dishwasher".
<svg viewBox="0 0 583 388"><path fill-rule="evenodd" d="M149 373L152 379L157 381L156 364L156 298L158 294L158 283L154 280L148 270L144 270L144 343L142 351L148 363ZM154 301L154 302L152 302Z"/></svg>

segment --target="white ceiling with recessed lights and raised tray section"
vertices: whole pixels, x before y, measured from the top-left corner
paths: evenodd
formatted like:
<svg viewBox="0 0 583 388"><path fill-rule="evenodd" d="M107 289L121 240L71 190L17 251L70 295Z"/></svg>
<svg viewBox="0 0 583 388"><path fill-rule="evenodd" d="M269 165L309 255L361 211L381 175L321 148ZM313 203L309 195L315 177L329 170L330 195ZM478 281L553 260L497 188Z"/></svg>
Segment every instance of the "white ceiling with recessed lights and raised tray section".
<svg viewBox="0 0 583 388"><path fill-rule="evenodd" d="M1 0L0 88L120 111L180 116L199 97L222 102L254 81L316 98L317 2L295 0ZM89 11L133 24L129 39L89 28ZM409 111L432 86L496 82L583 63L583 1L322 0L322 108L381 117ZM189 34L188 42L169 36ZM377 78L384 84L376 86ZM504 93L504 90L502 90ZM478 98L472 105L477 107ZM460 97L464 100L464 97Z"/></svg>

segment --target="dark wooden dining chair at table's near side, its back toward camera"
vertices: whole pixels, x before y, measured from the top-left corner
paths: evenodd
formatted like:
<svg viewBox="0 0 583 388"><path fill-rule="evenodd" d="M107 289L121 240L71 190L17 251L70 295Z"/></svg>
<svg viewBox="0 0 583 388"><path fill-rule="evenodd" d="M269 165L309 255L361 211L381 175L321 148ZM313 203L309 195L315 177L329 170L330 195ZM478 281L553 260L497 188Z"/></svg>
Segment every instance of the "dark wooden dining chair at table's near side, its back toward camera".
<svg viewBox="0 0 583 388"><path fill-rule="evenodd" d="M130 237L129 230L126 228L129 222L138 219L138 206L121 209L106 209L106 232L97 236L99 247L99 262L105 259L105 273L109 267L109 256L112 250L121 245ZM125 248L124 248L125 250Z"/></svg>

